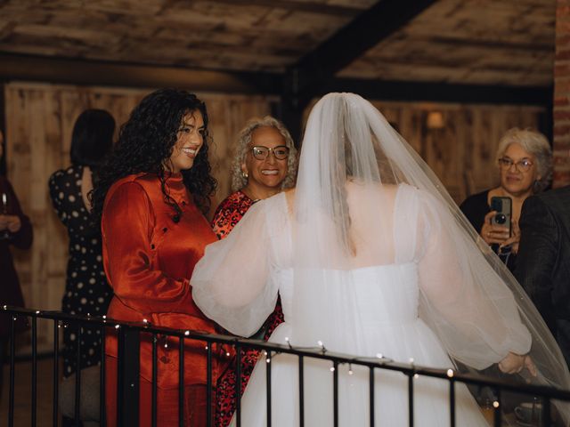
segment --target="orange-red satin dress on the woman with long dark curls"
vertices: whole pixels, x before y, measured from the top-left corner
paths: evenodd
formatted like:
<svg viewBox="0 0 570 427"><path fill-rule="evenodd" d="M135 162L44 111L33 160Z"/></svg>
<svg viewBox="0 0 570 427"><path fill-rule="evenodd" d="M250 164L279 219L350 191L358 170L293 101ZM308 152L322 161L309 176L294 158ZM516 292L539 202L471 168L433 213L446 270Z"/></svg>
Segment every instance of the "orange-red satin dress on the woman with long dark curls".
<svg viewBox="0 0 570 427"><path fill-rule="evenodd" d="M205 246L216 241L216 235L193 204L180 173L167 177L167 190L182 208L179 222L173 221L174 210L164 202L159 178L154 174L129 175L109 189L102 214L103 266L114 291L108 317L134 322L147 319L153 326L215 333L215 323L192 301L189 278ZM140 421L146 425L151 422L152 347L150 336L141 339ZM184 385L204 386L206 343L185 342ZM166 338L159 338L158 419L159 425L177 425L178 409L176 405L172 407L171 400L177 402L178 342L170 340L167 346L166 343ZM106 354L107 418L108 425L115 425L117 337L114 334L107 337ZM227 359L214 358L214 384ZM190 389L185 393L192 394ZM188 404L189 413L195 412L192 403ZM200 405L205 410L203 402Z"/></svg>

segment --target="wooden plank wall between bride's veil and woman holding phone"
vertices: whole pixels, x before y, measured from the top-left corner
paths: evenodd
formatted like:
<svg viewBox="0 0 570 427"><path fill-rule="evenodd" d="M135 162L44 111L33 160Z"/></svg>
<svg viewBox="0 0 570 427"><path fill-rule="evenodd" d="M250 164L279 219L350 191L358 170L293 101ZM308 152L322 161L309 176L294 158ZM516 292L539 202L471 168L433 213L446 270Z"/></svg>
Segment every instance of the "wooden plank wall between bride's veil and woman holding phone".
<svg viewBox="0 0 570 427"><path fill-rule="evenodd" d="M533 106L383 101L373 104L397 125L457 203L498 184L494 157L502 134L514 126L536 129L545 113L543 108ZM443 128L428 129L430 112L442 114Z"/></svg>

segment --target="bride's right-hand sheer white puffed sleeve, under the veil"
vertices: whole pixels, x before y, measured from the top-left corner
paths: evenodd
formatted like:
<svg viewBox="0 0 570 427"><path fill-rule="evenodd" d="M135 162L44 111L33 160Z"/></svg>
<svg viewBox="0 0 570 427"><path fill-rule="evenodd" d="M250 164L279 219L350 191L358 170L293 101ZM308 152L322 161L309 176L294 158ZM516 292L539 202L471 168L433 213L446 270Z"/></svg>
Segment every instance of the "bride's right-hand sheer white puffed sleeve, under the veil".
<svg viewBox="0 0 570 427"><path fill-rule="evenodd" d="M532 337L513 293L480 248L468 241L452 213L419 190L413 190L401 207L418 218L413 226L418 236L419 316L452 357L482 369L509 351L527 353Z"/></svg>

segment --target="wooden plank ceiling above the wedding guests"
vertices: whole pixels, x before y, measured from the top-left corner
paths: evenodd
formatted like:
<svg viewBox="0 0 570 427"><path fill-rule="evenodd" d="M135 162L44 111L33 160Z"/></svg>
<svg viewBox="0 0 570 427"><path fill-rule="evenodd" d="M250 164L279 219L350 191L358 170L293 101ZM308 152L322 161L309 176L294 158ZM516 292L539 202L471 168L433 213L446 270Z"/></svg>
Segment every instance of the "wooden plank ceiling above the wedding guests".
<svg viewBox="0 0 570 427"><path fill-rule="evenodd" d="M340 78L552 85L556 0L424 2L378 36L418 3L400 0L397 16L377 15L365 36L342 43L343 28L381 3L389 1L0 0L0 55L285 75L340 34L329 51L348 61L330 69Z"/></svg>

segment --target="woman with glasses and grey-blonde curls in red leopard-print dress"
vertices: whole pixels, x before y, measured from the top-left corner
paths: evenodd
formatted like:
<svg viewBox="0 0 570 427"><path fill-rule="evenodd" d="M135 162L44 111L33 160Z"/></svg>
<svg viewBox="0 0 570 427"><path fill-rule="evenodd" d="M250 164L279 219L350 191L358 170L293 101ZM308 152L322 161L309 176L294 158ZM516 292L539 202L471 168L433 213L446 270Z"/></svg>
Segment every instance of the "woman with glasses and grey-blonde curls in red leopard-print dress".
<svg viewBox="0 0 570 427"><path fill-rule="evenodd" d="M289 189L295 183L297 149L289 131L271 116L253 118L240 132L232 165L233 193L217 207L212 228L217 238L225 238L257 200ZM265 341L283 322L281 300L256 337ZM241 356L241 391L245 389L260 351L244 350ZM235 365L235 360L232 365ZM216 423L224 427L232 420L236 406L236 375L228 368L216 388Z"/></svg>

